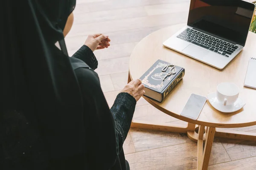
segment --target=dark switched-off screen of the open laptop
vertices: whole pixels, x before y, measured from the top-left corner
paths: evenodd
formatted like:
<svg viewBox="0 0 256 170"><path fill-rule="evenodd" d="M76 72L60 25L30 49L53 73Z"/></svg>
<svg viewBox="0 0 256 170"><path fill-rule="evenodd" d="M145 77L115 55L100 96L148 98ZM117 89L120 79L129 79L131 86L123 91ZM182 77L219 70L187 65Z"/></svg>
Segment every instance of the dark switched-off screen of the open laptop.
<svg viewBox="0 0 256 170"><path fill-rule="evenodd" d="M243 0L191 0L188 26L244 46L254 8Z"/></svg>

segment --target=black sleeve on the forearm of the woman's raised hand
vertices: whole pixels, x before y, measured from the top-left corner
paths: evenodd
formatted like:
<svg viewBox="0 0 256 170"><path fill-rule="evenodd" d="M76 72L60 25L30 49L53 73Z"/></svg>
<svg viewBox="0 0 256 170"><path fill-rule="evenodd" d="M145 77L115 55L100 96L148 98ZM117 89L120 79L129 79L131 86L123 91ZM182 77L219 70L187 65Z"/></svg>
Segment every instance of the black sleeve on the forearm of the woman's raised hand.
<svg viewBox="0 0 256 170"><path fill-rule="evenodd" d="M86 45L81 46L81 48L79 48L79 50L76 51L76 53L73 54L72 57L81 59L93 70L95 70L98 67L98 61L95 55L93 54L93 51Z"/></svg>

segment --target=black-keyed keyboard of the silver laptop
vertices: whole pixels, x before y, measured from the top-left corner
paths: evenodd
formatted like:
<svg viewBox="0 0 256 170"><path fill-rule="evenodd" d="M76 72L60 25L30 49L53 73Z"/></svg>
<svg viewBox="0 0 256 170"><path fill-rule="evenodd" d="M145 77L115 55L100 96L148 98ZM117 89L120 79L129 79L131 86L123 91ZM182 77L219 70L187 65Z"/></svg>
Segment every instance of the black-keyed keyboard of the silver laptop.
<svg viewBox="0 0 256 170"><path fill-rule="evenodd" d="M192 44L201 46L215 53L229 57L236 51L238 46L229 42L220 40L218 38L203 34L194 29L186 28L180 35L177 36L184 41L191 42Z"/></svg>

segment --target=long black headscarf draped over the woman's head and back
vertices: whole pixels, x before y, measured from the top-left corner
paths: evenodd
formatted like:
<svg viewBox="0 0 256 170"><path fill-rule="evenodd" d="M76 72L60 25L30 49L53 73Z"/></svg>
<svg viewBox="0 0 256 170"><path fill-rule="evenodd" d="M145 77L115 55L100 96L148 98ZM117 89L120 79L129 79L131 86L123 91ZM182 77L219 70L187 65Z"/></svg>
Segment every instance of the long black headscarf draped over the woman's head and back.
<svg viewBox="0 0 256 170"><path fill-rule="evenodd" d="M75 0L3 0L0 114L16 110L37 128L50 158L81 152L82 102L69 57L55 43Z"/></svg>

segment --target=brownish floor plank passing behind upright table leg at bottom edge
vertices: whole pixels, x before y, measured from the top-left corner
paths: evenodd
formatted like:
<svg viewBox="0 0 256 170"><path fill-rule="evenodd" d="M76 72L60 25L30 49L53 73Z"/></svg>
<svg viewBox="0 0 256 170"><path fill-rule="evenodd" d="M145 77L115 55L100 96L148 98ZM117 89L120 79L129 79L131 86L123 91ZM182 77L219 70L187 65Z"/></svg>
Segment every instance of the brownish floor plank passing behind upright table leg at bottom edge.
<svg viewBox="0 0 256 170"><path fill-rule="evenodd" d="M212 157L212 155L218 156ZM125 157L131 170L188 170L197 166L197 144L195 142L177 144L131 153ZM209 164L226 161L230 161L230 158L224 147L220 142L214 142Z"/></svg>

